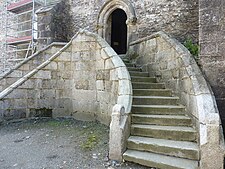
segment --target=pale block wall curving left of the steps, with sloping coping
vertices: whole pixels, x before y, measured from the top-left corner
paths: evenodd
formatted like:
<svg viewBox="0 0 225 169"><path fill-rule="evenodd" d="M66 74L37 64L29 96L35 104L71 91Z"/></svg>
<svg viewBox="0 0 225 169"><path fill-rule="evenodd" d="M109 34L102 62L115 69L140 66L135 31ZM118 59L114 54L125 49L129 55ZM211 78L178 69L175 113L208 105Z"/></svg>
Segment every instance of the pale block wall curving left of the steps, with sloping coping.
<svg viewBox="0 0 225 169"><path fill-rule="evenodd" d="M0 93L0 113L3 120L44 112L109 125L112 107L118 103L130 112L131 98L130 76L122 60L103 39L81 31Z"/></svg>

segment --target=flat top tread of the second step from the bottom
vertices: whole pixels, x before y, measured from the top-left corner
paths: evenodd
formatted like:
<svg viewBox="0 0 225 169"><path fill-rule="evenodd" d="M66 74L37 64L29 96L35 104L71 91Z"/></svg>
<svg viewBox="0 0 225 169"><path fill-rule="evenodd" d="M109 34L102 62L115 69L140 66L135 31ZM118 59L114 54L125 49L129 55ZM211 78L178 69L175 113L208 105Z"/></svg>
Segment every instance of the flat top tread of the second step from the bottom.
<svg viewBox="0 0 225 169"><path fill-rule="evenodd" d="M148 137L130 136L128 141L136 142L137 144L152 144L154 146L171 147L176 149L185 149L198 151L198 145L194 142L188 141L175 141L167 139L156 139Z"/></svg>

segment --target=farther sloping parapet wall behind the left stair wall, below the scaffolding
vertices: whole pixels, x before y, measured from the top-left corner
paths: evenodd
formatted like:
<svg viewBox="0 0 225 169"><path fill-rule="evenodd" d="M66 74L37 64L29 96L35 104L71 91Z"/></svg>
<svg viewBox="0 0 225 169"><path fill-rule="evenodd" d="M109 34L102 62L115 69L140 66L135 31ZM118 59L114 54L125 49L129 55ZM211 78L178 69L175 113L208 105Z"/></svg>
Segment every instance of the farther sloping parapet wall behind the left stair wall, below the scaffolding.
<svg viewBox="0 0 225 169"><path fill-rule="evenodd" d="M13 69L0 77L0 91L3 91L41 63L48 60L50 56L59 51L65 44L54 42L17 64Z"/></svg>

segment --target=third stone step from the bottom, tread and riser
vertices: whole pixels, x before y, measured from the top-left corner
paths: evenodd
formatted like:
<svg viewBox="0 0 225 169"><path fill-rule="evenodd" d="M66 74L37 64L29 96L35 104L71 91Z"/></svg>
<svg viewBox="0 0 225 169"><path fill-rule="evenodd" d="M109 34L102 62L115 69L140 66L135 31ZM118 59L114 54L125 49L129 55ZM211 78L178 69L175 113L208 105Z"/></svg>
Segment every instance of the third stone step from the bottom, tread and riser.
<svg viewBox="0 0 225 169"><path fill-rule="evenodd" d="M181 126L132 124L131 135L177 141L195 142L197 140L197 133L193 128Z"/></svg>

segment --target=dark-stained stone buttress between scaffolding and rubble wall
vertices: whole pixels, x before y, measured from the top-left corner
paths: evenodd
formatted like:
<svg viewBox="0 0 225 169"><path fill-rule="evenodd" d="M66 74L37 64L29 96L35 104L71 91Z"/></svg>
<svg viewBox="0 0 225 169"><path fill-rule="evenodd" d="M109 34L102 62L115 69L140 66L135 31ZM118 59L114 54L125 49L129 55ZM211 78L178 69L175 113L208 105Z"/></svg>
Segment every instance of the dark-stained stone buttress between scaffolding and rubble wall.
<svg viewBox="0 0 225 169"><path fill-rule="evenodd" d="M38 19L38 49L46 47L52 42L68 42L71 39L75 33L72 34L72 17L69 11L68 1L58 3L55 1L53 4L42 7L36 12Z"/></svg>

